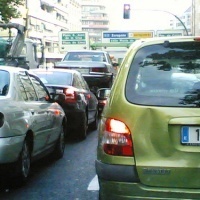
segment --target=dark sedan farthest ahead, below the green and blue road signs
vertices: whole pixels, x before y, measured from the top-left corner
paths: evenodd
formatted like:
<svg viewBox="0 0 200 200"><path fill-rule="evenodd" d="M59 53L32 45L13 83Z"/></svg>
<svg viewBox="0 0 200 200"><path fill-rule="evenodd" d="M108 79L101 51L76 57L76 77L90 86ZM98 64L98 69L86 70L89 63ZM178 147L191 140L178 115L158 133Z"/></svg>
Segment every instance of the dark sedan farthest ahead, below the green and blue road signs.
<svg viewBox="0 0 200 200"><path fill-rule="evenodd" d="M115 73L110 55L97 50L68 51L61 62L55 63L54 68L79 71L93 92L99 88L110 88Z"/></svg>

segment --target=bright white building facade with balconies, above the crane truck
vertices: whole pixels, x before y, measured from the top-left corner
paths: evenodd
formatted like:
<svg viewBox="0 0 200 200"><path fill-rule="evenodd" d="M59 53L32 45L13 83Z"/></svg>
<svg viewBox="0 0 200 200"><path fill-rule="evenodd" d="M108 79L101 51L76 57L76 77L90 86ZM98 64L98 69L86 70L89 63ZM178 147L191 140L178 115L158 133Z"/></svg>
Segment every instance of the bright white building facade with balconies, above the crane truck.
<svg viewBox="0 0 200 200"><path fill-rule="evenodd" d="M12 21L27 27L28 38L43 41L46 58L60 54L59 31L81 30L81 0L26 0L21 9L23 18Z"/></svg>

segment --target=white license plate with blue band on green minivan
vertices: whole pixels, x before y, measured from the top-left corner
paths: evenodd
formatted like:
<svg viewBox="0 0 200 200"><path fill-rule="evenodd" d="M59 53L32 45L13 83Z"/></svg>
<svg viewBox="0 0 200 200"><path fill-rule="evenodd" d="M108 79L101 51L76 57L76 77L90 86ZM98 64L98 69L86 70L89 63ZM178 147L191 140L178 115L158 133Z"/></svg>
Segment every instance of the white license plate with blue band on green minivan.
<svg viewBox="0 0 200 200"><path fill-rule="evenodd" d="M183 126L181 130L181 143L191 146L199 146L200 126Z"/></svg>

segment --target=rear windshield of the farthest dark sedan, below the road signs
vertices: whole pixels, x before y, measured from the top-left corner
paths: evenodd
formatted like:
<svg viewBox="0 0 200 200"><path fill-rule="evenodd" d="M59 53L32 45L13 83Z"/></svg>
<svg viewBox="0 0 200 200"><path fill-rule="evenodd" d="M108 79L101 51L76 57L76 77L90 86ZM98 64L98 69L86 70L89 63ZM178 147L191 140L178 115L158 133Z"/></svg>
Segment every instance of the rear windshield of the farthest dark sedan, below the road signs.
<svg viewBox="0 0 200 200"><path fill-rule="evenodd" d="M68 52L63 60L105 62L106 57L103 52Z"/></svg>

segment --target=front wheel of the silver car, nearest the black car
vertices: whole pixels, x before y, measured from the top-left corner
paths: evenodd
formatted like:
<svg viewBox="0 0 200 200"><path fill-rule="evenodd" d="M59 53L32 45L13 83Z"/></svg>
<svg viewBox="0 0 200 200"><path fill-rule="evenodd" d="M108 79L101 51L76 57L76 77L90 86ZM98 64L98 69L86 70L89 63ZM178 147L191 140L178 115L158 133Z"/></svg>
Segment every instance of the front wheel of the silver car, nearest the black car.
<svg viewBox="0 0 200 200"><path fill-rule="evenodd" d="M62 130L58 141L56 143L55 149L53 151L53 156L56 160L63 157L65 151L65 128L64 125L62 126Z"/></svg>

